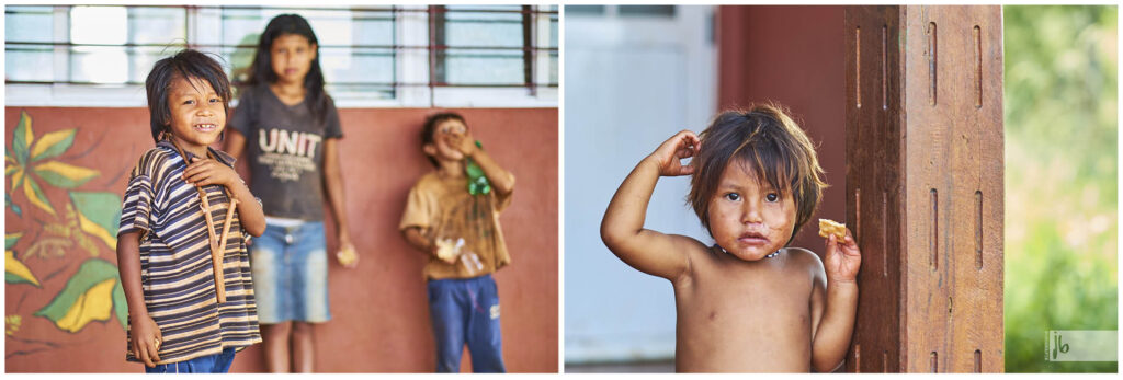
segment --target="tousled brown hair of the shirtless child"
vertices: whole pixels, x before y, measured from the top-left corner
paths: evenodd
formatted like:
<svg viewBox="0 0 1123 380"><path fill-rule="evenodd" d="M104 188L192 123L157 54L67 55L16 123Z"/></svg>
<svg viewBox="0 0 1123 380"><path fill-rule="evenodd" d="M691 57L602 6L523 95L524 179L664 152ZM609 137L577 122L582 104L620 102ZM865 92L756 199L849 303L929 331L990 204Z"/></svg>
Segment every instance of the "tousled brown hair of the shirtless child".
<svg viewBox="0 0 1123 380"><path fill-rule="evenodd" d="M694 176L687 200L710 231L710 202L722 173L730 163L748 165L758 184L768 183L780 196L795 201L795 229L788 244L819 206L823 169L811 140L785 111L775 104L759 104L746 111L725 111L702 131L702 148L691 163Z"/></svg>

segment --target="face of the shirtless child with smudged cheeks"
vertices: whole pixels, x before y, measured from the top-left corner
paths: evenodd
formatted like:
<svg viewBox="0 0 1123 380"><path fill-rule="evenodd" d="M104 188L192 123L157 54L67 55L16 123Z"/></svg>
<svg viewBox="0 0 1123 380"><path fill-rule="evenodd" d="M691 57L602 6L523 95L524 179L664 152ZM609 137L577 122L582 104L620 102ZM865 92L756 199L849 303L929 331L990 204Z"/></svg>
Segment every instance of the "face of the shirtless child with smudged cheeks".
<svg viewBox="0 0 1123 380"><path fill-rule="evenodd" d="M730 161L709 205L710 233L719 247L756 261L787 243L795 228L792 192L780 194L754 173L751 164Z"/></svg>

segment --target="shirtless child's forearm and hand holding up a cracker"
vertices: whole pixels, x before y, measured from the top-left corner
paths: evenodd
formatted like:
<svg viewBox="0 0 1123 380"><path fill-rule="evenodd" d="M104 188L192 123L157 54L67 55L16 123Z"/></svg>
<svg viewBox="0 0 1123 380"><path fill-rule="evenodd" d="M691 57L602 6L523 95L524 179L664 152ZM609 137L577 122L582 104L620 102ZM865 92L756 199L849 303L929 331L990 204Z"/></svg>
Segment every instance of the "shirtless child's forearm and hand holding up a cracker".
<svg viewBox="0 0 1123 380"><path fill-rule="evenodd" d="M827 299L825 305L819 306L822 318L812 331L814 337L811 364L819 372L834 371L842 363L850 347L855 314L858 311L857 275L861 266L861 252L849 230L843 241L837 239L833 234L827 238ZM816 276L818 287L822 288L822 275ZM818 298L822 299L822 296Z"/></svg>

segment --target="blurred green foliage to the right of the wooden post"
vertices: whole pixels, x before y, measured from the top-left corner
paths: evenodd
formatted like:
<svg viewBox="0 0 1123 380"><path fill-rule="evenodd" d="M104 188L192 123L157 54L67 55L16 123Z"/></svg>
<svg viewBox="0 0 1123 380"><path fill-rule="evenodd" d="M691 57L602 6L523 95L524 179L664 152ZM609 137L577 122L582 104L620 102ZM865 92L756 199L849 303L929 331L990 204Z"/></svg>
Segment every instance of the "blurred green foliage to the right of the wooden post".
<svg viewBox="0 0 1123 380"><path fill-rule="evenodd" d="M1049 330L1117 330L1117 11L1003 7L1007 372L1047 362Z"/></svg>

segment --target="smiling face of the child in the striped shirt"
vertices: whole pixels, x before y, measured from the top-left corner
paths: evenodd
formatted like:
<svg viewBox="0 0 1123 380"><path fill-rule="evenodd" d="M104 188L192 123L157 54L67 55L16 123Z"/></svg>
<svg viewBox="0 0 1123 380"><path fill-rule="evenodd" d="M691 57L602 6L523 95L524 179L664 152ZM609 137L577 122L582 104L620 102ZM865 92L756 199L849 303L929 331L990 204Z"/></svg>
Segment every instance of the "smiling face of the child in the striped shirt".
<svg viewBox="0 0 1123 380"><path fill-rule="evenodd" d="M218 141L226 127L226 108L210 83L202 78L176 76L167 92L172 120L168 127L175 143L198 154Z"/></svg>

